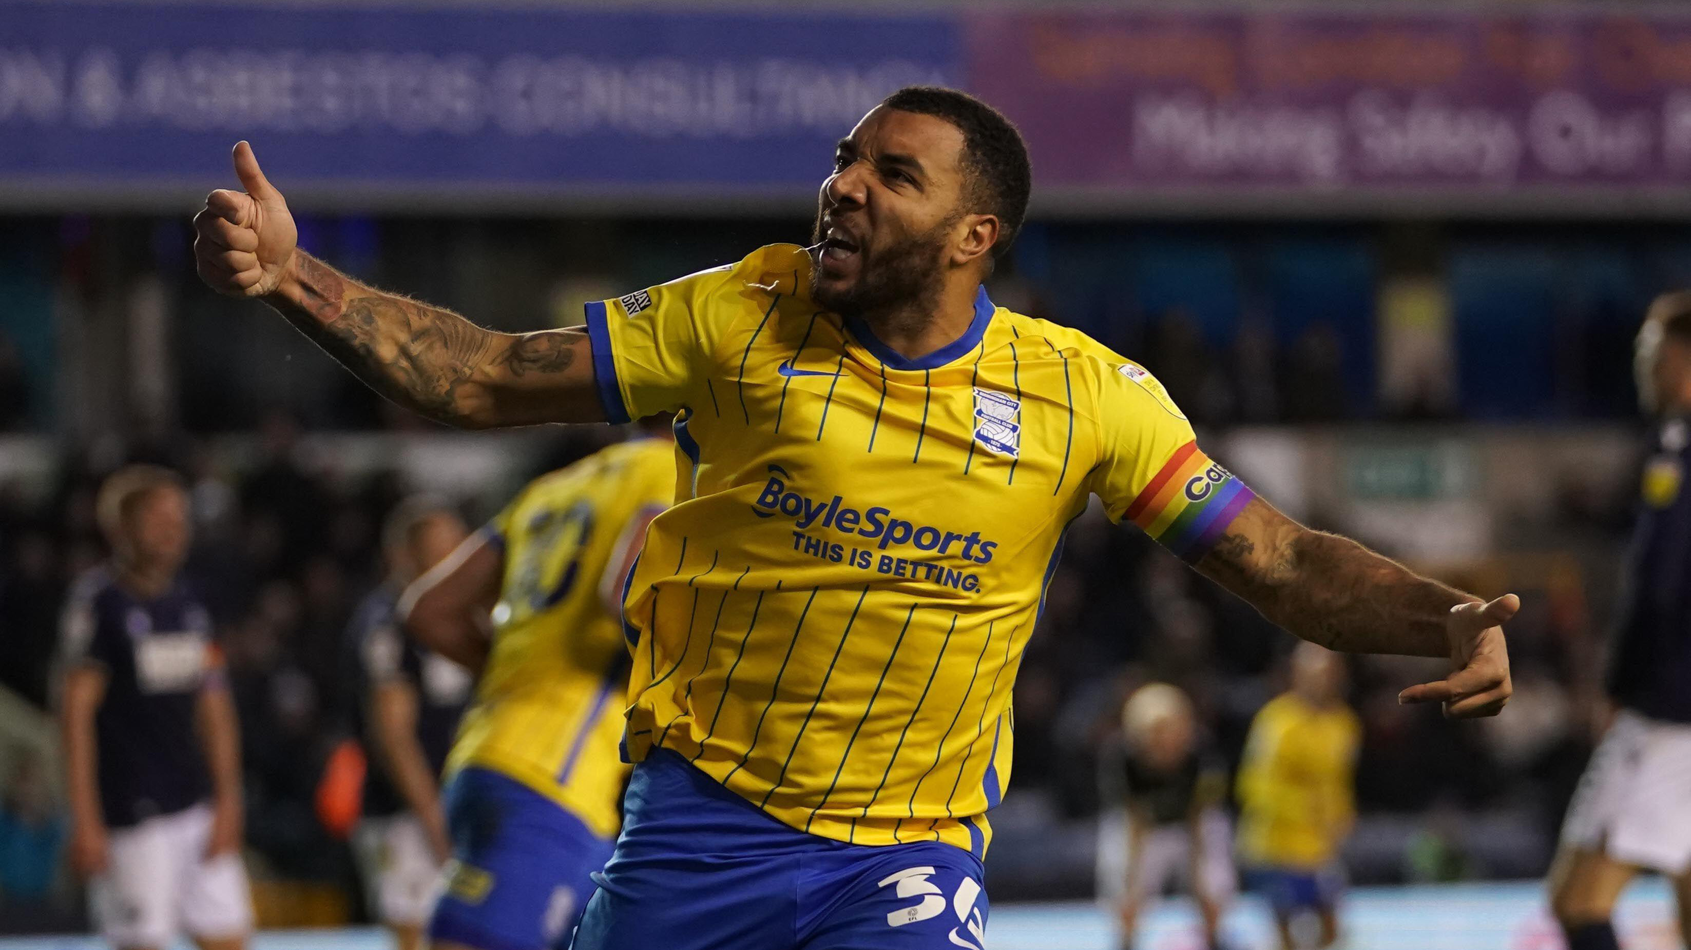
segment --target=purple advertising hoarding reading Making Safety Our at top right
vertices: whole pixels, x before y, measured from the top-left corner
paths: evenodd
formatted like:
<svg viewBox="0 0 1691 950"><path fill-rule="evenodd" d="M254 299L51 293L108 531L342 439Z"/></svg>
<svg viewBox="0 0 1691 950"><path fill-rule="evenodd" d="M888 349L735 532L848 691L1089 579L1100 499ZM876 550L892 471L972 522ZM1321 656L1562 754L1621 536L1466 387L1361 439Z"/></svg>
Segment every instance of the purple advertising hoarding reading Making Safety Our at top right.
<svg viewBox="0 0 1691 950"><path fill-rule="evenodd" d="M1003 12L964 35L971 90L1021 125L1042 189L1691 189L1691 19Z"/></svg>

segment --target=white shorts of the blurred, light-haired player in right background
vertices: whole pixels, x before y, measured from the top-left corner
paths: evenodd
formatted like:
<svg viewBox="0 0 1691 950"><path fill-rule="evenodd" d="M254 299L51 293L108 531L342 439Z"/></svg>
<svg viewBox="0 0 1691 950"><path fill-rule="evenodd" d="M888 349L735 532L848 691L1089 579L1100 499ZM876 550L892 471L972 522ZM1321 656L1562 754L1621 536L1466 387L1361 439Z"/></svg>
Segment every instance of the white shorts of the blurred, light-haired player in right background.
<svg viewBox="0 0 1691 950"><path fill-rule="evenodd" d="M1116 808L1099 815L1097 823L1097 898L1116 904L1123 898L1143 903L1170 886L1190 887L1196 894L1223 904L1238 891L1233 869L1233 828L1226 811L1209 808L1199 820L1202 854L1197 881L1192 877L1192 837L1184 823L1152 828L1143 838L1143 855L1130 855L1128 815ZM1138 859L1131 860L1130 859ZM1130 879L1128 867L1138 874Z"/></svg>

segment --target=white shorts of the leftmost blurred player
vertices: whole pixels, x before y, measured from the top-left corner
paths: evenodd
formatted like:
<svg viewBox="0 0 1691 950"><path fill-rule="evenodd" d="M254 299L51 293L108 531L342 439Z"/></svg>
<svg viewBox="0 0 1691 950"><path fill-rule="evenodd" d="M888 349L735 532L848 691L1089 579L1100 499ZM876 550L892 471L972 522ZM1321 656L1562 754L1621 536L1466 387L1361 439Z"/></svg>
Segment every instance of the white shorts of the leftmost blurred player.
<svg viewBox="0 0 1691 950"><path fill-rule="evenodd" d="M113 947L172 947L189 936L252 931L252 891L238 854L206 860L211 806L194 805L110 833L107 869L88 886L95 925Z"/></svg>

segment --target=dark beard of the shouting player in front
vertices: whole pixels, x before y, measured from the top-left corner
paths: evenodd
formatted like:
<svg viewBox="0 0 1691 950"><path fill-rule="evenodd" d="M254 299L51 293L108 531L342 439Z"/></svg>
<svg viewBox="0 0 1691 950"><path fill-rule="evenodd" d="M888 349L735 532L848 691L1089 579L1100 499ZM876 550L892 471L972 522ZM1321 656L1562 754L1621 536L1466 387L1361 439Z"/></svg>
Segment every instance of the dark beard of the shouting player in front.
<svg viewBox="0 0 1691 950"><path fill-rule="evenodd" d="M915 319L930 318L939 308L944 284L940 255L945 240L959 216L947 218L932 230L903 237L891 245L869 254L859 250L857 281L846 289L822 287L820 267L810 270L810 298L840 316L873 319L878 314L898 314ZM822 242L822 216L812 237Z"/></svg>

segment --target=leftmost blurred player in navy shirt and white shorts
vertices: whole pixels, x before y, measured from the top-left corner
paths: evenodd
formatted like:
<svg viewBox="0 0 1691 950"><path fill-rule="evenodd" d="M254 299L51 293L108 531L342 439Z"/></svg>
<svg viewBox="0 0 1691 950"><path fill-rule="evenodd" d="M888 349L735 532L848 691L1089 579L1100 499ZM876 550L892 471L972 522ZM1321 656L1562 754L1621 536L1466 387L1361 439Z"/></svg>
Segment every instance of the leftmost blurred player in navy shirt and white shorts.
<svg viewBox="0 0 1691 950"><path fill-rule="evenodd" d="M96 500L108 566L64 610L59 698L71 864L120 950L240 950L252 901L240 862L240 739L211 619L178 576L188 494L135 465Z"/></svg>

